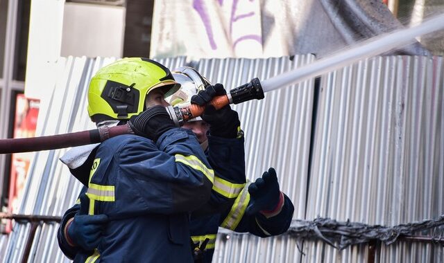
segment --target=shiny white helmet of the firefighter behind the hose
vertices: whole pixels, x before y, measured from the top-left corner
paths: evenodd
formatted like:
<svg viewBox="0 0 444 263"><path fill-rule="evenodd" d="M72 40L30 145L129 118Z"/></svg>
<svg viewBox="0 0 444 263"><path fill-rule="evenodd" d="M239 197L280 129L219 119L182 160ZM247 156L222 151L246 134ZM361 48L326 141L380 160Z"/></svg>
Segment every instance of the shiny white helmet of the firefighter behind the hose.
<svg viewBox="0 0 444 263"><path fill-rule="evenodd" d="M208 85L211 85L210 81L203 77L203 75L200 75L196 69L189 66L181 66L174 69L173 77L180 84L180 89L169 98L166 98L167 102L173 107L191 105L191 97L204 90ZM188 121L195 120L202 120L202 118L197 117Z"/></svg>

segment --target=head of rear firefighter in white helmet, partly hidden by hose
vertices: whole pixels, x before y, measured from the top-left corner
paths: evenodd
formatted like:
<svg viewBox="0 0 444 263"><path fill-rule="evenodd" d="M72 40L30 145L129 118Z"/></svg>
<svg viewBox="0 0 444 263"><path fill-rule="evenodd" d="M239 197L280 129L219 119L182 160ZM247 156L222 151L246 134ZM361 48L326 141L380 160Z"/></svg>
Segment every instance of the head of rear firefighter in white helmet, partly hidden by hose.
<svg viewBox="0 0 444 263"><path fill-rule="evenodd" d="M196 69L187 66L173 70L173 76L174 79L180 83L180 89L167 98L169 104L173 106L184 107L190 105L191 97L211 84L206 78L200 75ZM191 129L191 131L196 134L200 145L206 149L207 131L210 129L210 125L205 123L202 118L197 117L187 121L182 127Z"/></svg>

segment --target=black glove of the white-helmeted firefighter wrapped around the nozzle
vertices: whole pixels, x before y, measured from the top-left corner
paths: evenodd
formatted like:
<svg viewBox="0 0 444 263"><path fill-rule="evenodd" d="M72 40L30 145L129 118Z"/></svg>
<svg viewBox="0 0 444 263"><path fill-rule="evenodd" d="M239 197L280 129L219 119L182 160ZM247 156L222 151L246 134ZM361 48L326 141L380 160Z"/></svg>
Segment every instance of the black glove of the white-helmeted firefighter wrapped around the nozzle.
<svg viewBox="0 0 444 263"><path fill-rule="evenodd" d="M209 85L197 95L191 97L191 103L196 105L207 105L214 96L225 95L226 91L220 83ZM216 110L213 105L207 105L202 116L205 123L210 124L210 134L222 138L236 138L240 131L239 115L233 111L230 105Z"/></svg>

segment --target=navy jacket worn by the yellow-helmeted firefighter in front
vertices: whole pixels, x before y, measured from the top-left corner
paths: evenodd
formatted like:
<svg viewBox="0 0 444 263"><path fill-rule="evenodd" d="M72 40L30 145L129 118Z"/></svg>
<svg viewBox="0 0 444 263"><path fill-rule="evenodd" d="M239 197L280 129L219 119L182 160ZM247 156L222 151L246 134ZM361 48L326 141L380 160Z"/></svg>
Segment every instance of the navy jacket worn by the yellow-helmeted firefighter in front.
<svg viewBox="0 0 444 263"><path fill-rule="evenodd" d="M189 130L171 129L156 144L135 135L105 140L86 193L65 214L108 215L103 239L95 251L73 251L59 235L60 247L74 262L192 262L189 211L208 202L213 180Z"/></svg>

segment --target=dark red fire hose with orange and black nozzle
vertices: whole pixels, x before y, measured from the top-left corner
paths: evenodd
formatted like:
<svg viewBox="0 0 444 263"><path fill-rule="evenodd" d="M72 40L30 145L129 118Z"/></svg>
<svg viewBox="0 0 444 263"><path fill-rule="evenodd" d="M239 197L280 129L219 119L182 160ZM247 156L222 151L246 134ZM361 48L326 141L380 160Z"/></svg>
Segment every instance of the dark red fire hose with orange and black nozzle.
<svg viewBox="0 0 444 263"><path fill-rule="evenodd" d="M239 104L248 100L262 100L264 91L258 78L230 90L223 96L216 96L210 102L216 109L221 109L228 104ZM196 118L203 114L205 106L189 105L187 107L167 107L171 119L180 126L187 120ZM11 154L15 152L36 152L46 149L60 149L75 147L92 143L101 143L108 138L122 134L133 134L128 124L116 127L100 127L88 131L78 131L67 134L40 136L33 138L9 138L0 140L0 154Z"/></svg>

